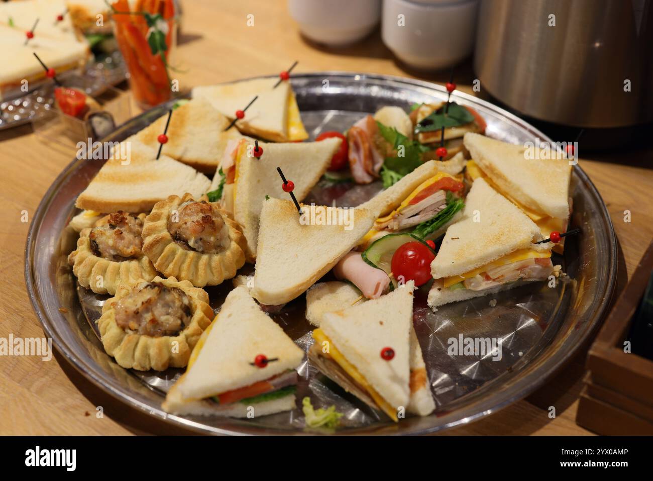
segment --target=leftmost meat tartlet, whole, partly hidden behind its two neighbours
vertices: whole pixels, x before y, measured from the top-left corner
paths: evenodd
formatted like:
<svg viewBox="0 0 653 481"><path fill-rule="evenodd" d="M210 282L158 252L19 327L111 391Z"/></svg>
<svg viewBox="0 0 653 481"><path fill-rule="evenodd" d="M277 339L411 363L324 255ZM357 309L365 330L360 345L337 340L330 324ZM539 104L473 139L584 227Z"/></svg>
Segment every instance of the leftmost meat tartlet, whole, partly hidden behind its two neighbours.
<svg viewBox="0 0 653 481"><path fill-rule="evenodd" d="M151 280L157 275L143 253L145 214L119 210L80 232L77 248L68 256L79 283L98 294L116 293L121 282Z"/></svg>

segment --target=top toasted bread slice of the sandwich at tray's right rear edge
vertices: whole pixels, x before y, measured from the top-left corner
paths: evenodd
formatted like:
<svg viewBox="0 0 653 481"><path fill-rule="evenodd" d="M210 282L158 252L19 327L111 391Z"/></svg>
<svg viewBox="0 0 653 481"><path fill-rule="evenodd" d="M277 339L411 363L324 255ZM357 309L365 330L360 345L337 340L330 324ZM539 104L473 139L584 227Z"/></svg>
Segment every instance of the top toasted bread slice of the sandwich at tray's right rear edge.
<svg viewBox="0 0 653 481"><path fill-rule="evenodd" d="M477 133L467 133L464 144L492 182L524 207L555 218L569 217L567 159L526 159L524 146Z"/></svg>

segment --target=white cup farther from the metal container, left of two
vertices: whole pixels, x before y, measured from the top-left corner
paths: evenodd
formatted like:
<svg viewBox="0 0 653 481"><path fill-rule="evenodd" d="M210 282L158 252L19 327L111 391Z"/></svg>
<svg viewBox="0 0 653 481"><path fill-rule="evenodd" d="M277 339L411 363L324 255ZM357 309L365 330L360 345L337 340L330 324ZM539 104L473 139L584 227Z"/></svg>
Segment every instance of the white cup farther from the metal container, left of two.
<svg viewBox="0 0 653 481"><path fill-rule="evenodd" d="M374 30L381 0L288 0L288 10L308 39L344 46Z"/></svg>

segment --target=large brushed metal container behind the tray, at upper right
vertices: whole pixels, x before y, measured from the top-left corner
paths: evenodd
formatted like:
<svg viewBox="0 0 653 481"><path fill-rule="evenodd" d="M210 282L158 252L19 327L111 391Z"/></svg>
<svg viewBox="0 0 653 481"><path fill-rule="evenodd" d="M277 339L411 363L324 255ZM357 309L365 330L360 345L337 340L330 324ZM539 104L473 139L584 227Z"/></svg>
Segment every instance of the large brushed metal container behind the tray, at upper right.
<svg viewBox="0 0 653 481"><path fill-rule="evenodd" d="M539 120L650 122L653 1L483 0L474 71L481 90Z"/></svg>

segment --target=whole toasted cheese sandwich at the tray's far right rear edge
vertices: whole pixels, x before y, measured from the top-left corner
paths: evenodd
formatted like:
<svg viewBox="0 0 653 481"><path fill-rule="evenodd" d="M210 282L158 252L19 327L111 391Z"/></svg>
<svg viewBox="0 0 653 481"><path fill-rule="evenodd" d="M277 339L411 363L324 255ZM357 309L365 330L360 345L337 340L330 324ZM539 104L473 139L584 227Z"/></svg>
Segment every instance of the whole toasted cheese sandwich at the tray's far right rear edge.
<svg viewBox="0 0 653 481"><path fill-rule="evenodd" d="M571 165L567 159L550 158L547 152L497 141L475 133L464 137L472 161L468 178L483 177L494 190L517 205L547 238L552 231L564 233L569 222L569 182ZM552 245L552 244L551 244ZM554 250L562 252L564 242Z"/></svg>

